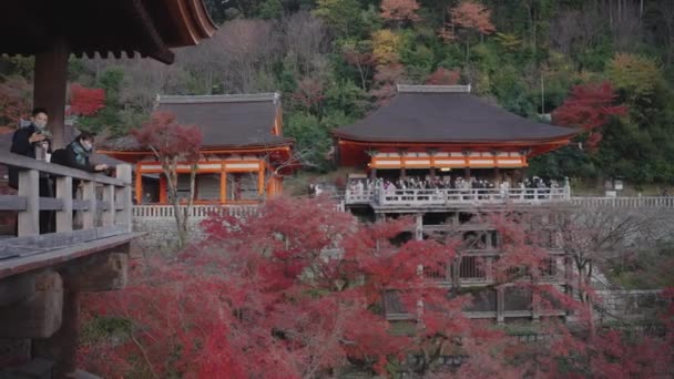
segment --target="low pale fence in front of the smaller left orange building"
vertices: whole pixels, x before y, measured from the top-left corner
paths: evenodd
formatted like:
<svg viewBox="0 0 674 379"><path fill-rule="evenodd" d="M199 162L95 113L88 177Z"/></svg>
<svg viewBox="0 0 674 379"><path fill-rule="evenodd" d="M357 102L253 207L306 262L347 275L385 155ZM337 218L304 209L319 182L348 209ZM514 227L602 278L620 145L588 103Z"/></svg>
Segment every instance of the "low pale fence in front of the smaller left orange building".
<svg viewBox="0 0 674 379"><path fill-rule="evenodd" d="M190 208L190 218L202 219L212 214L227 212L231 216L245 217L257 213L257 205L193 205ZM185 212L186 206L181 206ZM133 217L136 219L174 218L173 205L134 205Z"/></svg>

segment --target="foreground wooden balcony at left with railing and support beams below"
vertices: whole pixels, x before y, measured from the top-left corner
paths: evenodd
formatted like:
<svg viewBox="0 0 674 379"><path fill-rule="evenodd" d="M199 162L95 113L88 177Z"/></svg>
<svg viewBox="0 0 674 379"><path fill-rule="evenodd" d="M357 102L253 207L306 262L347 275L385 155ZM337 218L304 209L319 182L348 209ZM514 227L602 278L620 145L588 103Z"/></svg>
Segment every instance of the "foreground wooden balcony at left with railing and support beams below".
<svg viewBox="0 0 674 379"><path fill-rule="evenodd" d="M0 196L0 211L18 215L17 235L0 237L0 341L29 347L7 351L14 361L41 358L44 372L55 363L54 377L71 377L80 294L123 288L129 277L130 243L136 236L131 166L119 165L116 177L108 177L7 152L0 153L0 164L20 170L18 194ZM55 182L54 197L40 196L40 182L44 186L48 177ZM82 196L73 199L75 180ZM44 211L55 214L50 216L55 231L40 234Z"/></svg>

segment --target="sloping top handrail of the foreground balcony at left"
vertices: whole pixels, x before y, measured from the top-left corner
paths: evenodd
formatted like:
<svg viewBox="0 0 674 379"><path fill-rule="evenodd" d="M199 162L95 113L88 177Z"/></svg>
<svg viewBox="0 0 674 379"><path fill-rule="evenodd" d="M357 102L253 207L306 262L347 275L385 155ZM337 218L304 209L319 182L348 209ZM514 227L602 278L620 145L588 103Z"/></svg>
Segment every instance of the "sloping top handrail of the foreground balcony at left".
<svg viewBox="0 0 674 379"><path fill-rule="evenodd" d="M131 178L122 180L110 177L101 174L92 174L82 170L71 168L62 166L60 164L48 163L44 161L33 160L28 156L12 154L8 152L0 152L0 164L9 166L16 166L28 170L37 170L43 173L48 173L53 176L70 176L72 178L96 182L102 184L112 185L131 185Z"/></svg>

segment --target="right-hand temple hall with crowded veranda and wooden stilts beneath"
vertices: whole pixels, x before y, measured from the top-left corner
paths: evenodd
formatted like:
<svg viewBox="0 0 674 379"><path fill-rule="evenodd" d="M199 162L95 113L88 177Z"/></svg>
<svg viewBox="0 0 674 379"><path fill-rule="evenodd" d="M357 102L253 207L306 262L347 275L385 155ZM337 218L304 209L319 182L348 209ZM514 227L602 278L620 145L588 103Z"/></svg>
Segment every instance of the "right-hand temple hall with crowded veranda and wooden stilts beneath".
<svg viewBox="0 0 674 379"><path fill-rule="evenodd" d="M469 318L506 322L568 315L565 309L541 309L531 291L496 285L491 267L503 254L503 245L489 217L507 213L537 219L549 253L539 280L570 288L571 260L551 217L555 206L570 199L568 183L542 188L515 183L523 181L532 156L564 146L575 134L575 130L511 114L472 95L470 85L399 85L389 103L337 129L334 139L336 161L364 172L351 175L349 182L360 183L347 185L346 207L371 221L413 218L401 240L447 236L462 240L457 258L442 263L441 269L425 268L423 275L438 286L474 294L473 304L464 308ZM382 184L405 177L426 183L451 177L451 182L426 187ZM476 178L509 185L464 185ZM416 310L406 309L395 290L386 293L385 311L391 322L416 317Z"/></svg>

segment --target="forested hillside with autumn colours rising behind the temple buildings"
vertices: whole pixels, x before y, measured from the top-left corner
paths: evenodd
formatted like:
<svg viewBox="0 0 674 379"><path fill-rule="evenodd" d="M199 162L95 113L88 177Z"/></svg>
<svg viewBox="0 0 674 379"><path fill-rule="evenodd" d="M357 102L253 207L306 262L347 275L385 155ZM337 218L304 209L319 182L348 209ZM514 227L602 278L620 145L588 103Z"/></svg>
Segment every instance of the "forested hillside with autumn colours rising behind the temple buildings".
<svg viewBox="0 0 674 379"><path fill-rule="evenodd" d="M586 130L534 173L674 183L674 1L206 2L219 31L173 65L73 58L80 127L124 134L157 93L280 91L285 133L309 151L307 167L326 170L329 130L395 83L470 83L511 112ZM31 59L0 60L0 124L28 111L31 72Z"/></svg>

